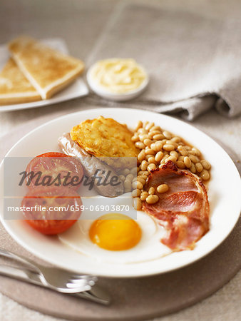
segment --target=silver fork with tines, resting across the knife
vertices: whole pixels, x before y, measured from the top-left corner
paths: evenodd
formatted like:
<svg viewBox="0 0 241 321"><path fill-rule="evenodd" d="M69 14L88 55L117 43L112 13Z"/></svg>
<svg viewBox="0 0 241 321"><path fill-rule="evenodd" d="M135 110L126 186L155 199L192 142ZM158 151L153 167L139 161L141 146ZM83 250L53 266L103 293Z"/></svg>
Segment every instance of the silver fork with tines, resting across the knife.
<svg viewBox="0 0 241 321"><path fill-rule="evenodd" d="M76 293L88 291L97 281L96 276L78 275L58 267L46 267L4 249L0 249L0 256L28 265L32 271L39 273L43 285L48 285L48 287L58 292Z"/></svg>

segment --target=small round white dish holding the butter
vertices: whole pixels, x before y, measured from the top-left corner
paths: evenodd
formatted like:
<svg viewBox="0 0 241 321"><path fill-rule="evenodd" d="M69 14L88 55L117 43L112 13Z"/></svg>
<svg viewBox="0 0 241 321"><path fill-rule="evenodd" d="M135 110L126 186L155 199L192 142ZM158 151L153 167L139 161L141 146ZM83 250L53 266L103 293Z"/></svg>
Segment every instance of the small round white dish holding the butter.
<svg viewBox="0 0 241 321"><path fill-rule="evenodd" d="M91 66L91 68L88 69L88 72L86 74L86 79L88 81L88 86L93 90L94 93L97 93L98 96L101 96L103 98L106 98L110 101L130 101L130 99L133 99L142 93L145 88L148 86L149 83L149 76L146 73L147 77L143 81L143 83L140 85L140 87L136 88L133 91L128 91L128 93L111 93L111 91L106 90L105 88L98 86L98 83L96 81L93 81L93 78L91 77L92 70L95 65Z"/></svg>

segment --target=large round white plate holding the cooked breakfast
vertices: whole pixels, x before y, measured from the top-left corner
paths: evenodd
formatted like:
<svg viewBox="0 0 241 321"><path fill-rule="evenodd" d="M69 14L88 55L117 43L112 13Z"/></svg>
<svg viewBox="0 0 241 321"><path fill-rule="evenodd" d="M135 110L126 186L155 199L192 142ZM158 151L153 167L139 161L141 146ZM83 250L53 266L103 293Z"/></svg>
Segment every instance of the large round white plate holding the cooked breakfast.
<svg viewBox="0 0 241 321"><path fill-rule="evenodd" d="M120 123L127 123L130 127L135 126L138 120L153 121L156 125L182 136L202 151L203 156L212 164L212 178L208 190L211 211L210 231L191 251L172 253L145 263L96 263L95 260L66 247L58 238L48 238L37 233L24 222L4 220L3 201L1 201L1 221L9 234L24 248L49 263L76 272L107 277L139 277L168 272L195 262L220 245L234 228L240 215L240 175L227 153L212 138L183 121L158 113L128 108L80 111L57 118L31 131L21 138L6 156L36 156L47 151L58 151L57 138L63 132L70 131L72 126L81 121L100 115L112 117ZM3 173L2 164L1 173ZM2 198L3 195L1 200Z"/></svg>

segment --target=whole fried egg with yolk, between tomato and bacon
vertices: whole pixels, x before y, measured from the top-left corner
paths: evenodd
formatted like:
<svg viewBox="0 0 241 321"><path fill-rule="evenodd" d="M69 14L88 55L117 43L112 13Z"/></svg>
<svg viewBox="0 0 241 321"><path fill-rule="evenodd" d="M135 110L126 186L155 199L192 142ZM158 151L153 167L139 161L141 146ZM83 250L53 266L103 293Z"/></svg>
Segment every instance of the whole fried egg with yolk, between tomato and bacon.
<svg viewBox="0 0 241 321"><path fill-rule="evenodd" d="M155 260L171 253L160 243L165 229L146 213L130 207L126 214L95 213L96 218L93 218L92 213L93 219L86 219L88 214L58 235L62 243L83 255L99 262L128 264Z"/></svg>

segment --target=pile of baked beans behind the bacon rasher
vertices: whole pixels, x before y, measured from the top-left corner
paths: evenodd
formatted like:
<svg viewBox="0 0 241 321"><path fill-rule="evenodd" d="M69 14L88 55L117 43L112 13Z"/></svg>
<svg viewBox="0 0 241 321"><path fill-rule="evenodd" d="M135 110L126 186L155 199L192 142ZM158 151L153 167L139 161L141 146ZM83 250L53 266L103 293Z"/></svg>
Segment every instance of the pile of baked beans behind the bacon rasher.
<svg viewBox="0 0 241 321"><path fill-rule="evenodd" d="M140 187L145 185L151 170L155 170L157 166L161 168L168 161L173 161L180 169L189 168L192 173L198 173L202 180L210 178L208 170L211 165L205 159L200 160L201 153L198 148L187 145L182 138L174 136L169 131L162 131L160 126L155 126L152 122L138 121L131 140L137 148L141 149L138 154L140 165L137 170L134 168L126 173L125 179L123 175L120 175L124 186L128 185L125 183L127 177L130 180L131 175L137 174L139 180L135 177L133 188L142 189Z"/></svg>

